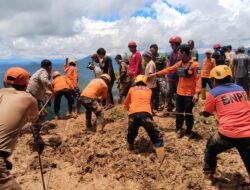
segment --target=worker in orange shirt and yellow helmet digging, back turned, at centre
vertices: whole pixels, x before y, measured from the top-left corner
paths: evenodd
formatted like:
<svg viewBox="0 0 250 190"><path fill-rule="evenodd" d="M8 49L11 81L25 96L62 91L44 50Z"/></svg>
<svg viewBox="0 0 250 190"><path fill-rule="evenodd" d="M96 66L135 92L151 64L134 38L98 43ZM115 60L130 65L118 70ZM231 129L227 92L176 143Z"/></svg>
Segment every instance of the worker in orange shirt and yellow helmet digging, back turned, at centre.
<svg viewBox="0 0 250 190"><path fill-rule="evenodd" d="M163 147L162 134L152 117L151 96L152 90L147 87L147 77L138 75L135 78L135 86L129 89L124 102L124 107L128 110L129 115L127 134L129 150L134 149L134 141L140 126L143 126L148 133L154 148Z"/></svg>

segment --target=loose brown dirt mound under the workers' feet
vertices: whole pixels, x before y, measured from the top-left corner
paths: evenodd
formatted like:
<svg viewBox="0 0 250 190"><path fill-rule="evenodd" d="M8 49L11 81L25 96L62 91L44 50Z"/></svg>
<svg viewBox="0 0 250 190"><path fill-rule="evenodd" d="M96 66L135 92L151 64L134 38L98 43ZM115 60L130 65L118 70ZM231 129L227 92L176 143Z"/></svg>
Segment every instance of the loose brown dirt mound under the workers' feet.
<svg viewBox="0 0 250 190"><path fill-rule="evenodd" d="M173 117L154 117L164 133L166 150L166 159L159 170L160 163L142 128L136 139L135 151L127 151L127 115L122 107L106 113L105 134L86 131L84 116L81 114L77 119L51 121L51 126L54 127L45 127L43 138L47 144L53 138L61 140L60 146L47 146L42 155L47 189L163 190L250 187L247 172L234 149L219 156L214 184L203 178L203 153L206 140L214 133L217 125L214 118L204 120L196 115L195 138L177 139ZM23 189L42 189L37 153L27 146L31 139L30 135L19 139L12 156L12 173Z"/></svg>

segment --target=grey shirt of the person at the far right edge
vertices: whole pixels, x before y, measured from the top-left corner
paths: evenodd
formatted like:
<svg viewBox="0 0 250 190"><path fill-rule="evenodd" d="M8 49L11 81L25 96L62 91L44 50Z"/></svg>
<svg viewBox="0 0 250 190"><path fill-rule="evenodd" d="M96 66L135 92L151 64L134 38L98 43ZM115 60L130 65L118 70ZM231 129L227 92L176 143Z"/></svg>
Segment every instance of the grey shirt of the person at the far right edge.
<svg viewBox="0 0 250 190"><path fill-rule="evenodd" d="M233 60L235 78L247 77L249 64L250 59L246 54L237 54Z"/></svg>

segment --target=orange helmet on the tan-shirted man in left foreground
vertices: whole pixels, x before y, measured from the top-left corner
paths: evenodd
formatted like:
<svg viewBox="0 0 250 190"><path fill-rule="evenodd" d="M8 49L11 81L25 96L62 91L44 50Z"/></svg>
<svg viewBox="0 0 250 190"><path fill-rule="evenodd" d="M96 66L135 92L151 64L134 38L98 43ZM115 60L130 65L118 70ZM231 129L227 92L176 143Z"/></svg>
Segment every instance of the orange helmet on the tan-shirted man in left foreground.
<svg viewBox="0 0 250 190"><path fill-rule="evenodd" d="M4 82L14 85L28 85L30 75L28 71L21 67L12 67L5 72Z"/></svg>

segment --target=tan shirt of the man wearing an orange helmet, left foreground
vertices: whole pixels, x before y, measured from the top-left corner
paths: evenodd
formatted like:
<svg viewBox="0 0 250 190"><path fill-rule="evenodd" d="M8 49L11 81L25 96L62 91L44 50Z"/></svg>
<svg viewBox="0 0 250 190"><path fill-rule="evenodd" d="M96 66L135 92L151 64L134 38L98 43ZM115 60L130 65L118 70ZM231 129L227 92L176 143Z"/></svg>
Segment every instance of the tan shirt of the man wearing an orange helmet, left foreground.
<svg viewBox="0 0 250 190"><path fill-rule="evenodd" d="M11 153L21 127L38 116L36 100L26 92L13 88L0 90L0 151Z"/></svg>

